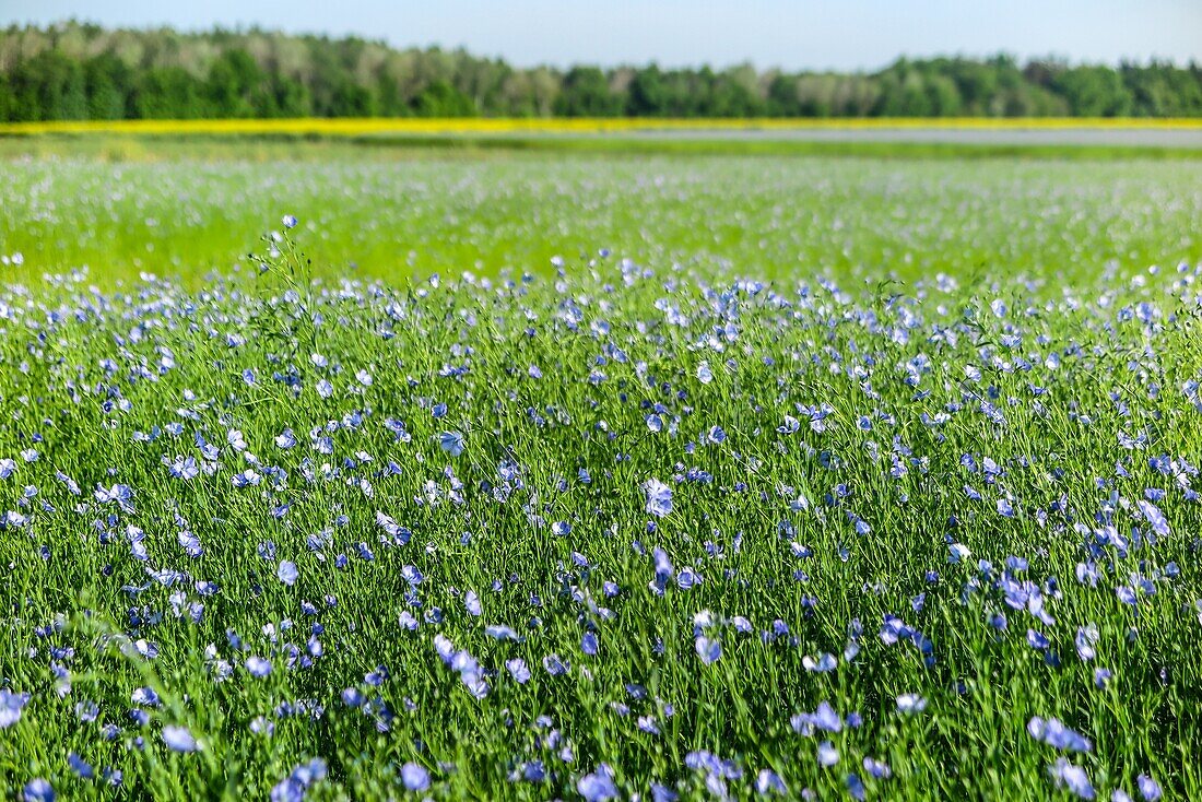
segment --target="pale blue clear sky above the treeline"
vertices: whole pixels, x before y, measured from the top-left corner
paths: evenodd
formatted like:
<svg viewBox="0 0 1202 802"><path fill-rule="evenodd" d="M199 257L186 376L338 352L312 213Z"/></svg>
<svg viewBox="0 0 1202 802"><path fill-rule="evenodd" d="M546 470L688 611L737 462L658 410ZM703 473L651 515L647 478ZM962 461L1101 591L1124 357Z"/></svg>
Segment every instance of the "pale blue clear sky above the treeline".
<svg viewBox="0 0 1202 802"><path fill-rule="evenodd" d="M1202 61L1202 0L0 0L0 24L258 24L466 47L512 64L876 69L998 52Z"/></svg>

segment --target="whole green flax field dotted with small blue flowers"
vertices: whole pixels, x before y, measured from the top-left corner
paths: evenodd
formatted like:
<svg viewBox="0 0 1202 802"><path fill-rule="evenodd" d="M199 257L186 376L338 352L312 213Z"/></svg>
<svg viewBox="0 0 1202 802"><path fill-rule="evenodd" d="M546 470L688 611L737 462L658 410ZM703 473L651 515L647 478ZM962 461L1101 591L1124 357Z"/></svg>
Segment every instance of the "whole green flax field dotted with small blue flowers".
<svg viewBox="0 0 1202 802"><path fill-rule="evenodd" d="M0 144L0 796L1202 796L1202 161Z"/></svg>

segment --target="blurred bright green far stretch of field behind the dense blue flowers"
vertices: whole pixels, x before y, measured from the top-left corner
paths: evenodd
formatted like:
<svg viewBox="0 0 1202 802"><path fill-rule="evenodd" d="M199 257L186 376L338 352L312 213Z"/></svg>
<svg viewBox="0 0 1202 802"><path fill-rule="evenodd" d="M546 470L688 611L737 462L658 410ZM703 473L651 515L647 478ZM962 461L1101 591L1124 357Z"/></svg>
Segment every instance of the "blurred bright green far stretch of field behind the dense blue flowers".
<svg viewBox="0 0 1202 802"><path fill-rule="evenodd" d="M100 145L97 145L100 147ZM131 145L132 147L132 145ZM11 280L90 268L228 272L281 209L323 275L400 280L600 248L648 265L774 278L862 269L1081 280L1202 253L1202 162L766 159L464 152L329 142L175 142L97 159L13 160L0 185ZM150 161L130 160L138 155Z"/></svg>

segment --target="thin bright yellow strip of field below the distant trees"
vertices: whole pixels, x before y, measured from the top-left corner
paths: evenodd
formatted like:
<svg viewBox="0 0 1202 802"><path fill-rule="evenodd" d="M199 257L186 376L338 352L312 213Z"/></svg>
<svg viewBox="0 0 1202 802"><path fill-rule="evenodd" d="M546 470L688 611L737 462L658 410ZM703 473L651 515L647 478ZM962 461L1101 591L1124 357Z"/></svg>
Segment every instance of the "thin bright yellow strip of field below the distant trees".
<svg viewBox="0 0 1202 802"><path fill-rule="evenodd" d="M839 119L651 119L651 118L302 118L226 120L84 120L0 124L0 135L31 133L291 133L359 136L623 133L639 131L749 131L789 129L1138 129L1202 130L1202 119L1149 118L839 118Z"/></svg>

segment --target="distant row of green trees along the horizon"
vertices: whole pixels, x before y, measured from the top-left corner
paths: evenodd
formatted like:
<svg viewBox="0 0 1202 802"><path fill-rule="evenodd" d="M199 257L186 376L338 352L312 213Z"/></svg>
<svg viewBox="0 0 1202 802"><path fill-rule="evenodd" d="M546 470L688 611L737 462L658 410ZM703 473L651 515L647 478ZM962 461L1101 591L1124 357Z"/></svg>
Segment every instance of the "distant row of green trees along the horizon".
<svg viewBox="0 0 1202 802"><path fill-rule="evenodd" d="M1202 66L998 55L862 73L559 70L257 29L0 31L0 120L272 117L1202 117Z"/></svg>

